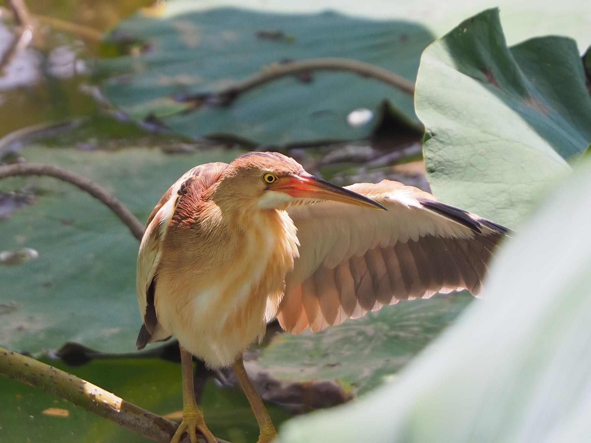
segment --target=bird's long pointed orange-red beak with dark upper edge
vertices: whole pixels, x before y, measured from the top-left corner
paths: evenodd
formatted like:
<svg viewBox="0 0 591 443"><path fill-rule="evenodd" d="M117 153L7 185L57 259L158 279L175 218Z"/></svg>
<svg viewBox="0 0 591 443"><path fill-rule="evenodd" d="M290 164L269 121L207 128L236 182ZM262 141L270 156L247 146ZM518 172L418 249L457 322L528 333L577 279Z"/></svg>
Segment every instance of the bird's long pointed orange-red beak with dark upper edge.
<svg viewBox="0 0 591 443"><path fill-rule="evenodd" d="M322 178L313 175L294 174L280 177L269 186L270 190L281 191L291 197L317 198L319 200L333 200L341 203L355 204L374 209L386 208L371 198L349 191Z"/></svg>

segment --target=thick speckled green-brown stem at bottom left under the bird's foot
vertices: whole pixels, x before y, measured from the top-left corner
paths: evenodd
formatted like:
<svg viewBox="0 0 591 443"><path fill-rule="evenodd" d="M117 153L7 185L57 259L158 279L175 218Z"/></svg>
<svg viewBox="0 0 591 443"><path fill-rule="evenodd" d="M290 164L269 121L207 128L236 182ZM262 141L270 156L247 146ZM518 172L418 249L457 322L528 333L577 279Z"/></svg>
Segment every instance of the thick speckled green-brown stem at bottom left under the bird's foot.
<svg viewBox="0 0 591 443"><path fill-rule="evenodd" d="M57 395L154 441L170 442L178 427L175 422L128 403L86 380L2 347L0 374ZM198 439L199 443L205 441L201 435ZM183 442L188 441L185 435ZM228 442L218 439L218 443Z"/></svg>

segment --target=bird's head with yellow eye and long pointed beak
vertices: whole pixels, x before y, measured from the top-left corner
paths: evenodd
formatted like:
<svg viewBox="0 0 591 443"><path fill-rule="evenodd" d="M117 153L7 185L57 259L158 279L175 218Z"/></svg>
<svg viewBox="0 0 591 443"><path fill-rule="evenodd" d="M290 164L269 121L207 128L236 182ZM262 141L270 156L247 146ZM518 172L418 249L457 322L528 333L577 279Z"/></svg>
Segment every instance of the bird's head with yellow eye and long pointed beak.
<svg viewBox="0 0 591 443"><path fill-rule="evenodd" d="M314 177L278 152L249 152L236 158L222 172L217 192L245 209L287 209L322 200L385 209L368 197Z"/></svg>

